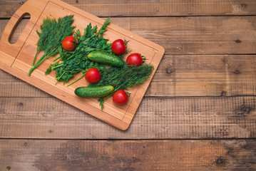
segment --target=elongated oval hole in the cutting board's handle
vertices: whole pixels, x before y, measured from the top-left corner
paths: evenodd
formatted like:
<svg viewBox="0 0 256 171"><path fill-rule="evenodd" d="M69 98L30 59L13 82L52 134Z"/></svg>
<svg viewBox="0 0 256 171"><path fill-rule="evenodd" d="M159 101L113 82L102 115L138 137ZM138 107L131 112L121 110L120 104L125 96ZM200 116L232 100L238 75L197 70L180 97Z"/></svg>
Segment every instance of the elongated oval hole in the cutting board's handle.
<svg viewBox="0 0 256 171"><path fill-rule="evenodd" d="M25 13L21 16L19 21L12 28L11 34L9 36L9 43L14 44L18 41L19 36L21 36L22 31L26 28L26 25L29 23L31 16L29 13Z"/></svg>

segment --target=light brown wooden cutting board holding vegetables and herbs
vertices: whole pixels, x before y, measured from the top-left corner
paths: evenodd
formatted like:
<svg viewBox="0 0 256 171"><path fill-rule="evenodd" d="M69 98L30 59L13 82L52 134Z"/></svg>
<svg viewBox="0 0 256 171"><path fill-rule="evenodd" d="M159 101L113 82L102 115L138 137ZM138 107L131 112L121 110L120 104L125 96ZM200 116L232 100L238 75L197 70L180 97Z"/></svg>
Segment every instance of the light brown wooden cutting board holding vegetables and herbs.
<svg viewBox="0 0 256 171"><path fill-rule="evenodd" d="M9 40L12 33L19 24L19 21L21 21L26 14L30 14L31 19L29 19L28 24L26 24L18 41L16 41L16 43L10 43ZM126 31L114 24L109 24L107 28L108 31L103 34L103 37L109 39L110 42L113 42L118 38L125 38L129 41L128 49L131 50L130 53L141 53L148 59L146 62L151 63L154 66L154 71L145 83L128 89L128 92L131 93L131 95L126 105L116 105L113 103L112 98L108 98L104 103L104 109L101 110L98 98L79 98L74 94L76 88L80 86L88 86L85 79L81 79L71 86L66 86L63 85L63 83L56 84L54 72L47 76L44 74L46 68L52 63L54 57L44 61L41 66L34 70L31 76L27 75L36 54L36 43L39 40L36 30L40 31L43 19L45 19L46 16L58 19L59 17L71 14L73 14L74 19L73 25L76 26L76 29L79 29L81 33L83 33L83 29L90 23L93 26L97 25L98 28L101 28L104 22L103 19L88 14L86 11L77 9L63 1L27 1L11 17L4 29L0 42L0 68L21 80L40 88L46 93L115 126L116 128L126 130L143 99L143 95L153 78L156 68L158 68L165 50L162 46L135 35L130 31ZM39 53L37 59L39 59L42 54L43 53ZM127 56L125 56L125 58ZM81 74L77 74L76 78L79 76L81 76Z"/></svg>

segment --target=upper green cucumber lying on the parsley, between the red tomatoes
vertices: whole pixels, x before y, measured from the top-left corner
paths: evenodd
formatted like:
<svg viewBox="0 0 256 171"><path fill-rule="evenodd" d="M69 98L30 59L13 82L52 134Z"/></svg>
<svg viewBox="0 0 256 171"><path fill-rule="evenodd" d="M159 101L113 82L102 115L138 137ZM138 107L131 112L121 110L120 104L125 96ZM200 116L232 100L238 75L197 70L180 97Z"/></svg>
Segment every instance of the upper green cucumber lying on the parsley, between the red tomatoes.
<svg viewBox="0 0 256 171"><path fill-rule="evenodd" d="M105 51L92 51L88 54L88 58L91 59L91 61L116 66L118 68L122 68L124 65L121 58Z"/></svg>

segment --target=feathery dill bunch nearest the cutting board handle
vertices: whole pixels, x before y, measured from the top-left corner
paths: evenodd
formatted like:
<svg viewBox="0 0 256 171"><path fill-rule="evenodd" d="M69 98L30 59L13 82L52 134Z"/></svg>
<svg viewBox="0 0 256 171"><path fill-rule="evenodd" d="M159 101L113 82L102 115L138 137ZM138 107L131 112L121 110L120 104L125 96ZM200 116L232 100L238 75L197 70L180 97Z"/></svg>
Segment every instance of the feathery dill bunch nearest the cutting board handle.
<svg viewBox="0 0 256 171"><path fill-rule="evenodd" d="M73 34L75 26L71 26L71 24L73 24L73 15L58 18L58 21L56 21L56 19L50 19L49 17L43 19L41 33L36 31L39 35L39 41L36 43L36 56L40 51L43 51L43 56L41 56L37 62L36 56L34 57L32 67L28 73L29 76L43 61L62 51L61 42L63 38Z"/></svg>

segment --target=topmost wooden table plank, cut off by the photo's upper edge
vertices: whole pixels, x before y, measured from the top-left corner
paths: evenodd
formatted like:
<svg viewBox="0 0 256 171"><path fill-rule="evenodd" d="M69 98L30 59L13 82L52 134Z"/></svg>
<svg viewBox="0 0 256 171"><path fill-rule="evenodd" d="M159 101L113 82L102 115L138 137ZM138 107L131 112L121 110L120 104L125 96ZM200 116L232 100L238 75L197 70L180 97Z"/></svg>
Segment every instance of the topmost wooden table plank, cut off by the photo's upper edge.
<svg viewBox="0 0 256 171"><path fill-rule="evenodd" d="M170 1L71 1L63 0L96 16L219 16L255 15L254 0L170 0ZM25 1L0 2L0 18L10 18Z"/></svg>

